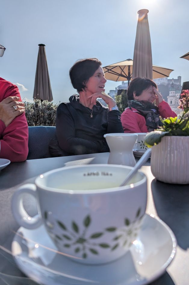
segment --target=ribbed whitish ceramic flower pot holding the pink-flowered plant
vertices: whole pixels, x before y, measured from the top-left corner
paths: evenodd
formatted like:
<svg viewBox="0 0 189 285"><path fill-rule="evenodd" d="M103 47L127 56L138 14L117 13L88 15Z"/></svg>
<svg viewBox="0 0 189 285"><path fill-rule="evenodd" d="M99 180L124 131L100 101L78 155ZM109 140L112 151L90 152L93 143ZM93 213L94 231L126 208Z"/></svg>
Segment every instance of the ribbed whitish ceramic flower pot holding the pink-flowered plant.
<svg viewBox="0 0 189 285"><path fill-rule="evenodd" d="M153 146L151 171L162 182L188 184L189 136L164 136Z"/></svg>

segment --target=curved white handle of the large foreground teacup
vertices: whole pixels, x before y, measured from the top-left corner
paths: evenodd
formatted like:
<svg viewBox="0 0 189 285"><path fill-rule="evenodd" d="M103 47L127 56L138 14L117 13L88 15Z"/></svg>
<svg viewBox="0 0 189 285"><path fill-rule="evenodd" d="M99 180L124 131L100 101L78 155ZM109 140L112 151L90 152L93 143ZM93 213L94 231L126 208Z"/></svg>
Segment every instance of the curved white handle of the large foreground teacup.
<svg viewBox="0 0 189 285"><path fill-rule="evenodd" d="M24 228L34 229L38 228L42 224L42 217L40 213L38 213L35 217L30 217L26 212L23 206L23 195L24 194L33 195L37 200L36 194L36 185L34 184L25 184L18 188L18 190L14 193L12 197L12 213L19 225Z"/></svg>

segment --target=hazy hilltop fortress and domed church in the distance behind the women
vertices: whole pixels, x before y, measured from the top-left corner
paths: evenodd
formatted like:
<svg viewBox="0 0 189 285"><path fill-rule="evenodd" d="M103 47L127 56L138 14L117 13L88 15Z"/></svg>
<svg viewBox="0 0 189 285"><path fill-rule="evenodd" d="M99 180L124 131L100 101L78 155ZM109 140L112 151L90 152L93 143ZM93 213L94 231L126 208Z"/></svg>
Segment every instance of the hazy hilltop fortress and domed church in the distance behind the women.
<svg viewBox="0 0 189 285"><path fill-rule="evenodd" d="M167 77L164 78L157 78L153 80L157 86L158 90L163 96L163 99L168 102L171 109L178 115L182 110L178 109L179 105L179 96L182 89L181 84L181 76L178 76L177 79L172 78L168 79ZM108 95L110 95L112 98L115 97L115 95L121 92L122 89L127 89L127 81L122 81L122 84L117 86L115 90L110 90ZM120 90L120 91L118 91ZM98 99L99 100L99 99ZM99 100L102 104L104 104L104 101ZM105 105L106 106L106 105Z"/></svg>

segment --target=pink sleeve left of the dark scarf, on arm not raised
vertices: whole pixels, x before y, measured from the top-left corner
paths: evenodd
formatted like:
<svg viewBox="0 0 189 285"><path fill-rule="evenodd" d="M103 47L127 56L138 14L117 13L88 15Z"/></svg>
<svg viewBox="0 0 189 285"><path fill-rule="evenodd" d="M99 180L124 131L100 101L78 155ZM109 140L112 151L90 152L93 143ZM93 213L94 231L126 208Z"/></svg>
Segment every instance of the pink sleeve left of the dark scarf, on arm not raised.
<svg viewBox="0 0 189 285"><path fill-rule="evenodd" d="M142 133L137 120L137 113L126 109L121 114L121 123L124 133Z"/></svg>

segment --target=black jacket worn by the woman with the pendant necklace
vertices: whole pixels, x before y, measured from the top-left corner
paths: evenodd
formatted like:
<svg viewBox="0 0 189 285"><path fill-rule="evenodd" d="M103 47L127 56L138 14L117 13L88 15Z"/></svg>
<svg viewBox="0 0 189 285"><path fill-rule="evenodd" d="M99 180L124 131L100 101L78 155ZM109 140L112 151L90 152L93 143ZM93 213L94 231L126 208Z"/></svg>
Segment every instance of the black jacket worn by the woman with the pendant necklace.
<svg viewBox="0 0 189 285"><path fill-rule="evenodd" d="M79 103L79 95L69 98L70 103L61 103L57 108L56 134L58 145L50 145L53 156L80 155L109 152L105 133L123 133L119 111L108 110L97 104L92 110ZM89 111L90 110L90 111ZM62 150L62 153L61 153Z"/></svg>

